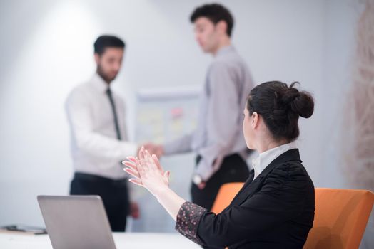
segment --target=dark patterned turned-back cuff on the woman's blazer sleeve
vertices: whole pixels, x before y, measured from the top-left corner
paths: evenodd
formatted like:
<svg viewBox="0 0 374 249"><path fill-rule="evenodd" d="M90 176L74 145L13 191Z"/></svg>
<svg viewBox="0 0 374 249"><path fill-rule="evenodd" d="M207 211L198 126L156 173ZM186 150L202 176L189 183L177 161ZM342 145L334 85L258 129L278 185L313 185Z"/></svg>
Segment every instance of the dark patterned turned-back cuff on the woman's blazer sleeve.
<svg viewBox="0 0 374 249"><path fill-rule="evenodd" d="M198 238L198 223L200 222L201 216L206 212L205 208L186 201L179 209L176 217L176 231L186 236L199 245L203 245L203 242Z"/></svg>

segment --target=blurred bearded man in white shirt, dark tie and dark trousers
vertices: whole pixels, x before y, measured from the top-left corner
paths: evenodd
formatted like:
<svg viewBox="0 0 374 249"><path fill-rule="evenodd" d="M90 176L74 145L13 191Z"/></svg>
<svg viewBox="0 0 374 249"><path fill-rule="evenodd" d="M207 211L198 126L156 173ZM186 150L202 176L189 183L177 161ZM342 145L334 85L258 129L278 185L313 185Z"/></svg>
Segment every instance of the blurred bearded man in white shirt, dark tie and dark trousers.
<svg viewBox="0 0 374 249"><path fill-rule="evenodd" d="M137 146L127 141L123 99L111 91L124 49L125 43L116 36L98 37L96 73L66 100L75 170L70 194L101 196L112 231L125 231L128 214L138 217L138 205L130 204L121 166L124 157L136 154Z"/></svg>

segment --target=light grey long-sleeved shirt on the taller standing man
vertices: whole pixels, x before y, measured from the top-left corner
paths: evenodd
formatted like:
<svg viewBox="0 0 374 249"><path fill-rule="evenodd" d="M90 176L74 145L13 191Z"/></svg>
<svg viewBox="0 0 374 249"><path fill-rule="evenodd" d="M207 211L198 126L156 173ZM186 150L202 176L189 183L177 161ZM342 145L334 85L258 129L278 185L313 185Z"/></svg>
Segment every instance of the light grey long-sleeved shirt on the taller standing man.
<svg viewBox="0 0 374 249"><path fill-rule="evenodd" d="M204 181L218 171L224 157L234 153L245 157L243 109L252 88L251 73L235 48L221 48L208 68L195 132L164 144L165 154L201 155L194 173Z"/></svg>

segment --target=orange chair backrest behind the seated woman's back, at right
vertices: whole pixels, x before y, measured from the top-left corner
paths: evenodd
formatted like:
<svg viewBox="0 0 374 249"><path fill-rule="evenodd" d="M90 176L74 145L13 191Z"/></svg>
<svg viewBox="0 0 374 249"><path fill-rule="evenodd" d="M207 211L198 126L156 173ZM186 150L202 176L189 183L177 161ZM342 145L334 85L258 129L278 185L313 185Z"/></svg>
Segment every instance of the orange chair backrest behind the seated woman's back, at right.
<svg viewBox="0 0 374 249"><path fill-rule="evenodd" d="M373 202L367 190L315 189L315 218L304 249L358 248Z"/></svg>

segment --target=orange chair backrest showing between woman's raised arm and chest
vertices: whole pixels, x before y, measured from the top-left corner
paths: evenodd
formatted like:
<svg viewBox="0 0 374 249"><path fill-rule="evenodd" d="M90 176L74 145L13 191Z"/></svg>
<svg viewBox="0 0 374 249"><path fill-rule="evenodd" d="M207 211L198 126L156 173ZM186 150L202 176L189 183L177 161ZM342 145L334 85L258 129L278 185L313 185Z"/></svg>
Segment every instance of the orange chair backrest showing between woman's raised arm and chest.
<svg viewBox="0 0 374 249"><path fill-rule="evenodd" d="M213 213L221 213L223 209L230 205L238 191L241 190L243 184L243 182L231 182L228 184L223 184L218 191L211 211Z"/></svg>

